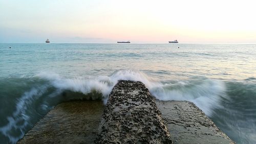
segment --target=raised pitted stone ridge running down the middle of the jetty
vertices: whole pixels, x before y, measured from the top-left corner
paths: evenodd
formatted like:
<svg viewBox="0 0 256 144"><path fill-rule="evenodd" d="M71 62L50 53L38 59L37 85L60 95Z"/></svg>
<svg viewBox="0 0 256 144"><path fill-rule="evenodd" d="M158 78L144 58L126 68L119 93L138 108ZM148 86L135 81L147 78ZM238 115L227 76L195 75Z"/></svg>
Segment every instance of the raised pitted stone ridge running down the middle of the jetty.
<svg viewBox="0 0 256 144"><path fill-rule="evenodd" d="M106 104L95 143L172 143L172 140L145 85L119 81Z"/></svg>

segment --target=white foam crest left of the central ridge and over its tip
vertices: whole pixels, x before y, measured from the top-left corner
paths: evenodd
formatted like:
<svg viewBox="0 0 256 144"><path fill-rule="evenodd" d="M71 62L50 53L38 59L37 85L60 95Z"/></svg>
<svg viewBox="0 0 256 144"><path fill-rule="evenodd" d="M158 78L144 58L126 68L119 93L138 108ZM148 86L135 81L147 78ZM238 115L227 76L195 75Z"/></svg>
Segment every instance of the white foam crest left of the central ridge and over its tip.
<svg viewBox="0 0 256 144"><path fill-rule="evenodd" d="M150 82L146 75L140 71L134 70L118 70L115 71L113 75L109 76L99 76L94 79L84 79L84 78L63 78L58 74L45 73L42 72L36 77L49 80L51 84L61 90L71 90L74 92L81 92L83 94L88 94L93 90L101 93L103 98L107 98L113 89L114 85L118 80L131 80L131 81L141 81L147 87L153 87L154 83Z"/></svg>

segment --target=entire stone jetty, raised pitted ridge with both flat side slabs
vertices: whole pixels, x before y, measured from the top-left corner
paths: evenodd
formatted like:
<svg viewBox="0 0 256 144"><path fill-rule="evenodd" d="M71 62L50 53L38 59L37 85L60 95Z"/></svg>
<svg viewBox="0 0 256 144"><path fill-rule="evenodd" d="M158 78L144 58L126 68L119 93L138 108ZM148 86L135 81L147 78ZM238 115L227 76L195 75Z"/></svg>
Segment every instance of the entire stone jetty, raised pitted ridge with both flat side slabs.
<svg viewBox="0 0 256 144"><path fill-rule="evenodd" d="M119 81L106 106L57 105L17 143L234 143L193 103L157 101L141 82Z"/></svg>

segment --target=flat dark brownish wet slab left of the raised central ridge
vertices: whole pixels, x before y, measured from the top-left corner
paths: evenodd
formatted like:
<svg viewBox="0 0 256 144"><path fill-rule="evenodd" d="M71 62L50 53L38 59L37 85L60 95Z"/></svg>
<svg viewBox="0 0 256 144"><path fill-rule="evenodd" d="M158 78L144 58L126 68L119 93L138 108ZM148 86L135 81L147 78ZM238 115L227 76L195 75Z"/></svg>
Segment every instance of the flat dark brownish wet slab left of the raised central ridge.
<svg viewBox="0 0 256 144"><path fill-rule="evenodd" d="M101 101L63 102L17 143L94 143L103 109Z"/></svg>

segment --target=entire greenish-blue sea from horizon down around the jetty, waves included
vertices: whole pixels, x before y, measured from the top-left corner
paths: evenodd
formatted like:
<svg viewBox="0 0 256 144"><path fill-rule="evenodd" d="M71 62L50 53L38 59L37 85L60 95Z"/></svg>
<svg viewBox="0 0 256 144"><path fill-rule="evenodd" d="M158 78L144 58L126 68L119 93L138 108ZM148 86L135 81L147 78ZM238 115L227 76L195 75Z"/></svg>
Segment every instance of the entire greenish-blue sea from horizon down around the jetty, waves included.
<svg viewBox="0 0 256 144"><path fill-rule="evenodd" d="M0 67L0 143L62 101L106 103L118 80L193 102L232 140L256 143L256 44L2 43Z"/></svg>

